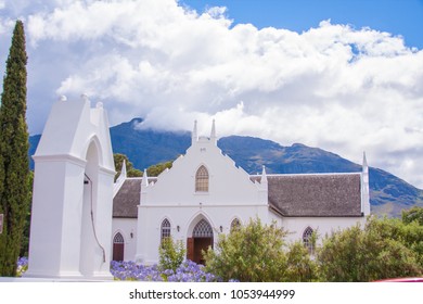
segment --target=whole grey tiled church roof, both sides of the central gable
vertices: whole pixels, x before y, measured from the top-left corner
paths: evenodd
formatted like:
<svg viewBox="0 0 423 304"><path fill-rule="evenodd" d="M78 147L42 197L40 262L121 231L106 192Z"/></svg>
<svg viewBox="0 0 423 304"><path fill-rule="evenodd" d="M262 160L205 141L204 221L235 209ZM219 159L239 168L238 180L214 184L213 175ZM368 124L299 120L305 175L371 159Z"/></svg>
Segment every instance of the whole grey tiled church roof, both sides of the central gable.
<svg viewBox="0 0 423 304"><path fill-rule="evenodd" d="M252 176L260 182L261 176ZM271 208L286 217L361 215L360 174L268 175ZM149 181L156 178L149 178ZM128 178L113 199L113 217L137 218L141 178Z"/></svg>

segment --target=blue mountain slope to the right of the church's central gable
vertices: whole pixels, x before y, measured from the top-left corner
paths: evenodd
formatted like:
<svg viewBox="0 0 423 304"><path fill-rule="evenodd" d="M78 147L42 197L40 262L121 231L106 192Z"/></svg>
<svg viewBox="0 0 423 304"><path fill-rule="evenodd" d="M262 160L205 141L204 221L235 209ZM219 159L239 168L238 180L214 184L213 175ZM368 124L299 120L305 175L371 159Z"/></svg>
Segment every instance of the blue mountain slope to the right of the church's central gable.
<svg viewBox="0 0 423 304"><path fill-rule="evenodd" d="M336 154L300 143L282 147L269 140L231 136L219 140L220 149L238 165L254 174L266 166L268 173L349 173L361 165ZM369 168L372 212L400 216L401 210L423 206L423 191L382 169Z"/></svg>

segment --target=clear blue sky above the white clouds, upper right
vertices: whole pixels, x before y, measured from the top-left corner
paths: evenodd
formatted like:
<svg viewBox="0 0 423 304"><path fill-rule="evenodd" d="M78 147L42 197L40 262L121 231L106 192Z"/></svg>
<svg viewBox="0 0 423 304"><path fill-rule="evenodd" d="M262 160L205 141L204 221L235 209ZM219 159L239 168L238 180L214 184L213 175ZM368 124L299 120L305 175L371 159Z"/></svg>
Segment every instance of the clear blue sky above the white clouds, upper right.
<svg viewBox="0 0 423 304"><path fill-rule="evenodd" d="M252 23L302 33L323 20L401 35L409 47L423 48L422 0L181 0L192 9L227 7L234 24Z"/></svg>

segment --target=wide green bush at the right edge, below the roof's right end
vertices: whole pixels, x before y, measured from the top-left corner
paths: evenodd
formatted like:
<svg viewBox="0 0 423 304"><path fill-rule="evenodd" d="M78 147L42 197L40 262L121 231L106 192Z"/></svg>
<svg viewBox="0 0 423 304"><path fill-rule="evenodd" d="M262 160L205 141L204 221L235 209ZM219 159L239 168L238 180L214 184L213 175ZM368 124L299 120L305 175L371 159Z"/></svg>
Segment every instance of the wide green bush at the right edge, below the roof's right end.
<svg viewBox="0 0 423 304"><path fill-rule="evenodd" d="M421 276L422 227L398 219L370 217L359 225L337 231L323 240L318 251L324 281L374 281Z"/></svg>

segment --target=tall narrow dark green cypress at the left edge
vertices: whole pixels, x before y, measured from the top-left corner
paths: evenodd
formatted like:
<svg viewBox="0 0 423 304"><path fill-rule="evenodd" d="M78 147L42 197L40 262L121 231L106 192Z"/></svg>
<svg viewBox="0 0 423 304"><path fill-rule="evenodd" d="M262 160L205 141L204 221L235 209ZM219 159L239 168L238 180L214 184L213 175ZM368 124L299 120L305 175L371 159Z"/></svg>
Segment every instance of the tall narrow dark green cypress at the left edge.
<svg viewBox="0 0 423 304"><path fill-rule="evenodd" d="M16 22L3 78L0 107L0 276L13 277L29 204L24 25Z"/></svg>

